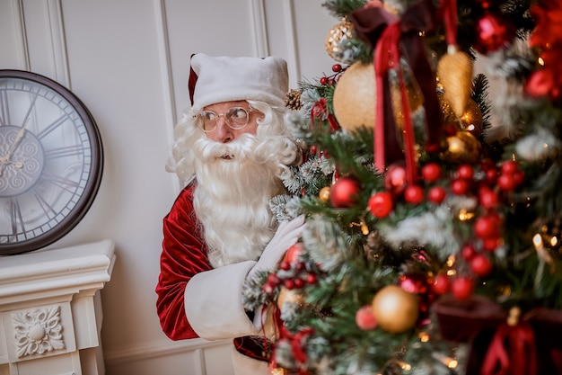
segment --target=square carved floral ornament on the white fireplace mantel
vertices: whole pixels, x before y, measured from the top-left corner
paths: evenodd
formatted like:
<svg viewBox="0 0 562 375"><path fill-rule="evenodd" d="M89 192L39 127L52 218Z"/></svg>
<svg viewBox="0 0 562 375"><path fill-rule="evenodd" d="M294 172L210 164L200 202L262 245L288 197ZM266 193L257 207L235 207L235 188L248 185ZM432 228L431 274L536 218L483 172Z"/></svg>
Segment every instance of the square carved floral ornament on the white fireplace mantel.
<svg viewBox="0 0 562 375"><path fill-rule="evenodd" d="M36 308L13 314L18 357L64 350L60 307Z"/></svg>

